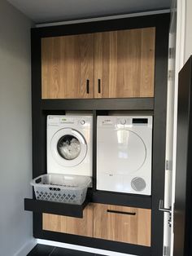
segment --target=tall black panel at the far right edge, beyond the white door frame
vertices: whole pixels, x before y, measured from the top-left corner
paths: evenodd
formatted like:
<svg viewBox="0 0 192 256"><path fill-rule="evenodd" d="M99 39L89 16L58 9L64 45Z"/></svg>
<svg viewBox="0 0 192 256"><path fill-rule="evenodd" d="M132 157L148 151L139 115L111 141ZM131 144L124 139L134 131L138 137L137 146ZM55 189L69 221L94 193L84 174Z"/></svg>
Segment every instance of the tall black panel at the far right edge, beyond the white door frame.
<svg viewBox="0 0 192 256"><path fill-rule="evenodd" d="M192 185L192 57L179 73L174 256L190 256Z"/></svg>

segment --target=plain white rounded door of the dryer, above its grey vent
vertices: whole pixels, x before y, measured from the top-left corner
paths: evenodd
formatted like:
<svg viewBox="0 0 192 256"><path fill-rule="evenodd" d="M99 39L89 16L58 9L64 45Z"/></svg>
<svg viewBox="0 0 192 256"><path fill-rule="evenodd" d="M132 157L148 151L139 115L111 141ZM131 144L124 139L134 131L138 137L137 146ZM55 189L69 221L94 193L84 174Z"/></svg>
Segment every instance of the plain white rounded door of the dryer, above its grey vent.
<svg viewBox="0 0 192 256"><path fill-rule="evenodd" d="M98 130L98 170L108 174L133 174L145 161L146 145L132 130Z"/></svg>

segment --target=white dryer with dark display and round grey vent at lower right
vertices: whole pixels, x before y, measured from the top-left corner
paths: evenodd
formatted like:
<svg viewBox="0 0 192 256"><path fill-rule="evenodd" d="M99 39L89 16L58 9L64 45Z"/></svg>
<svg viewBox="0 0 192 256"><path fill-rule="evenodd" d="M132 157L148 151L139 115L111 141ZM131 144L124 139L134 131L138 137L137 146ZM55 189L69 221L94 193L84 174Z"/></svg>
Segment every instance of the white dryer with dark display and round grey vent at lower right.
<svg viewBox="0 0 192 256"><path fill-rule="evenodd" d="M151 195L152 116L98 116L97 189Z"/></svg>

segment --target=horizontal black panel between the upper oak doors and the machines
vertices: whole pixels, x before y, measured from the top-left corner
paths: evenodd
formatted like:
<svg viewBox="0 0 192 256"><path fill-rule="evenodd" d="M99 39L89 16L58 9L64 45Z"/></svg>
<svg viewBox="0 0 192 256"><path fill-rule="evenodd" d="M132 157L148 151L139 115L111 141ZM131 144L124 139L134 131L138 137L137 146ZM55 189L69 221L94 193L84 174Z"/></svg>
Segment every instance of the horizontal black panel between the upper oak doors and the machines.
<svg viewBox="0 0 192 256"><path fill-rule="evenodd" d="M41 99L41 110L153 110L154 98Z"/></svg>

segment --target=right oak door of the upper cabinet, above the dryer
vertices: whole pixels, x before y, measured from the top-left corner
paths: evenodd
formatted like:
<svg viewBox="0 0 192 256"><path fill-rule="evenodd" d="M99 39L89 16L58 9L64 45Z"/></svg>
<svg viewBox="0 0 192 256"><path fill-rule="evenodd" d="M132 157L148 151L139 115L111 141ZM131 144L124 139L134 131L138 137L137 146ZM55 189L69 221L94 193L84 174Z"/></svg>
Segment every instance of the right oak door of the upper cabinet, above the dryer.
<svg viewBox="0 0 192 256"><path fill-rule="evenodd" d="M153 97L155 28L95 33L94 97Z"/></svg>

